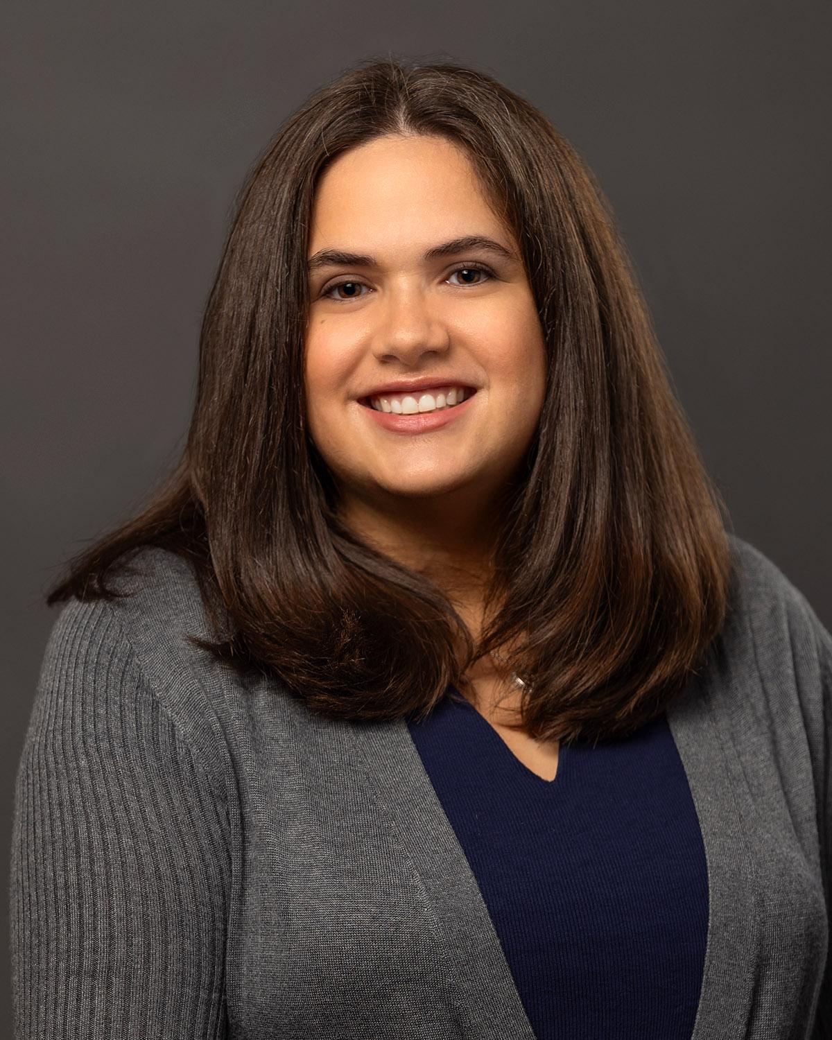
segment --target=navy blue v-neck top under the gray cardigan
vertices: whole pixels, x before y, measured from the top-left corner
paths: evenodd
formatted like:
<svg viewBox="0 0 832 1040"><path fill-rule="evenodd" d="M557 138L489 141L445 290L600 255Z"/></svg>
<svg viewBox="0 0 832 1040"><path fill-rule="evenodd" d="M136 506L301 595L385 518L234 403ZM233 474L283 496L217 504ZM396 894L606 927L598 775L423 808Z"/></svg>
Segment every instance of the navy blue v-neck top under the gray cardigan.
<svg viewBox="0 0 832 1040"><path fill-rule="evenodd" d="M562 744L552 781L467 702L408 727L539 1040L690 1040L707 867L667 717Z"/></svg>

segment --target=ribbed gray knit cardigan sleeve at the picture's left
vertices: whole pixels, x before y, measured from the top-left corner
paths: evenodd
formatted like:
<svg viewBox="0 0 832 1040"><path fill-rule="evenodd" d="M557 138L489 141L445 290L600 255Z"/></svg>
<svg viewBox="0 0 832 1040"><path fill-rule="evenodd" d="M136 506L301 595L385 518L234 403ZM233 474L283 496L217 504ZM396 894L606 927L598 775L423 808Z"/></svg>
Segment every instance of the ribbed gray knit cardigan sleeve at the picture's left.
<svg viewBox="0 0 832 1040"><path fill-rule="evenodd" d="M228 817L115 610L64 606L15 787L16 1037L216 1038Z"/></svg>

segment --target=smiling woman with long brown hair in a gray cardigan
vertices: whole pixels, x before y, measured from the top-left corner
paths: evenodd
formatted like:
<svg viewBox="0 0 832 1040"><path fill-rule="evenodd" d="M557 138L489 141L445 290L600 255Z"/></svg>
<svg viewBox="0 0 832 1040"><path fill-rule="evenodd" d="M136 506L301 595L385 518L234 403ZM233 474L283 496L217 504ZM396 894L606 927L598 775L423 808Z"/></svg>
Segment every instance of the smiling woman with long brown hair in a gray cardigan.
<svg viewBox="0 0 832 1040"><path fill-rule="evenodd" d="M181 462L48 600L19 1034L829 1035L832 638L724 513L551 124L319 90Z"/></svg>

